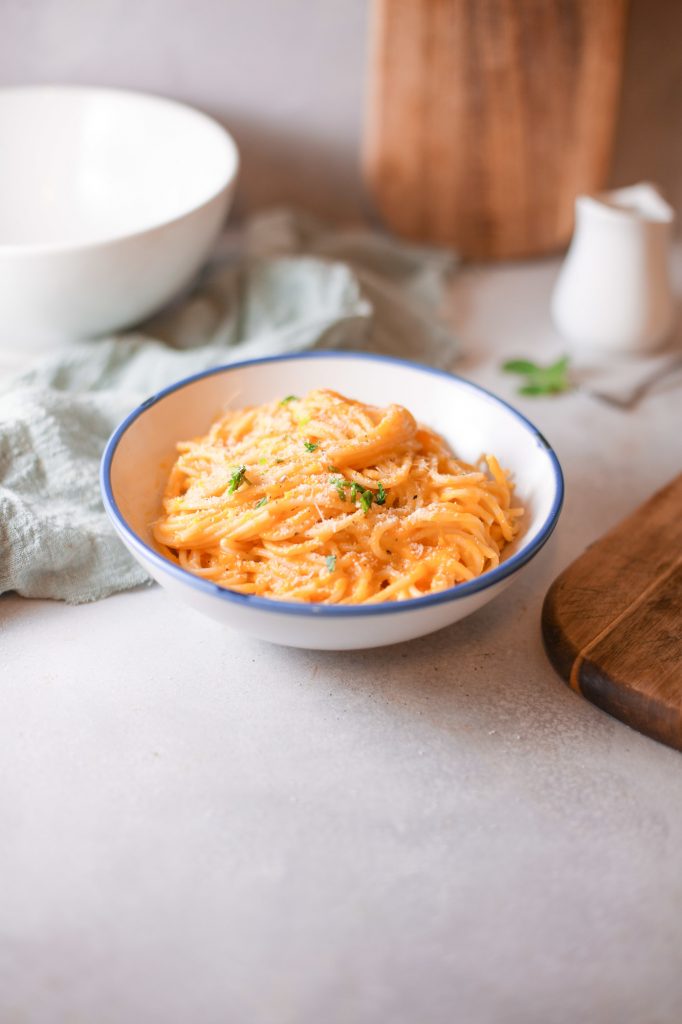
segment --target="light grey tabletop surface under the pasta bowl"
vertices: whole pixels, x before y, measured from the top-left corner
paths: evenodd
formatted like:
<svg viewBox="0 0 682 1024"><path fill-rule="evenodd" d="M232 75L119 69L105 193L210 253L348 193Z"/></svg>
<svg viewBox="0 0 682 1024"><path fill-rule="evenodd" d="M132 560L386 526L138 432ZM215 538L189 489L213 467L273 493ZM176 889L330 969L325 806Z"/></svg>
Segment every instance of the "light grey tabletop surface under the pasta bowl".
<svg viewBox="0 0 682 1024"><path fill-rule="evenodd" d="M514 398L501 359L561 351L555 272L460 275L462 373ZM682 392L517 403L560 527L441 633L306 652L156 587L0 601L2 1024L682 1020L682 755L568 690L539 625L678 471Z"/></svg>

